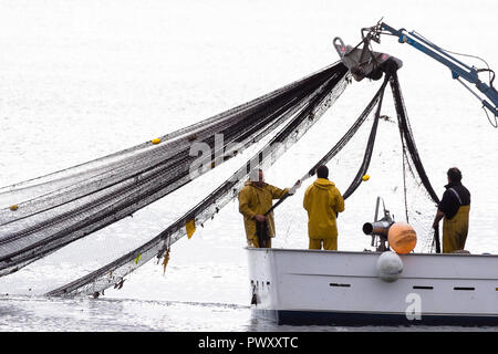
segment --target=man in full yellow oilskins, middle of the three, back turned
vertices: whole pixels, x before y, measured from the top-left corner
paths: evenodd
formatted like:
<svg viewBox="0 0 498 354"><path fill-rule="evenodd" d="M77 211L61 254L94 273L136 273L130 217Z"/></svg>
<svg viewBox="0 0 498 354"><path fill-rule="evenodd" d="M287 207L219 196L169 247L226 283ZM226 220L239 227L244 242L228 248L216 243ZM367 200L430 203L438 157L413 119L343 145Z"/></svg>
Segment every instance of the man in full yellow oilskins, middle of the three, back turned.
<svg viewBox="0 0 498 354"><path fill-rule="evenodd" d="M344 211L344 199L329 180L329 168L317 168L317 180L304 192L303 207L308 211L308 236L310 250L338 250L339 212Z"/></svg>

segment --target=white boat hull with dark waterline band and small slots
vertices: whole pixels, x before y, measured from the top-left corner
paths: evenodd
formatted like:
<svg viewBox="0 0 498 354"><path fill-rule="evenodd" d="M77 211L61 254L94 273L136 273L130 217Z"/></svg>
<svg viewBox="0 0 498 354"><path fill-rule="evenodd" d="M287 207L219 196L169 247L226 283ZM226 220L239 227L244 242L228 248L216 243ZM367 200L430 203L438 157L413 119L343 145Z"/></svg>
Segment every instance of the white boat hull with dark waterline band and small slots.
<svg viewBox="0 0 498 354"><path fill-rule="evenodd" d="M252 310L279 324L498 325L498 256L400 254L386 282L380 252L247 251Z"/></svg>

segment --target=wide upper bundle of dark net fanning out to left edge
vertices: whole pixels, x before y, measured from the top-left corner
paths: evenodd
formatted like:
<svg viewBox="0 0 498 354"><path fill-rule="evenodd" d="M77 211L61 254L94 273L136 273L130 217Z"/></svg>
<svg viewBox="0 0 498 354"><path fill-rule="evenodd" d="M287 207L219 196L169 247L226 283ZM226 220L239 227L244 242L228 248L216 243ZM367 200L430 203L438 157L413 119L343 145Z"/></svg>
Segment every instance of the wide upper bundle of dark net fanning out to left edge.
<svg viewBox="0 0 498 354"><path fill-rule="evenodd" d="M241 150L259 142L345 72L333 64L156 140L1 188L0 275L131 216L222 164L237 154L226 154L234 144ZM191 154L196 143L211 153L199 159ZM200 168L193 170L197 162Z"/></svg>

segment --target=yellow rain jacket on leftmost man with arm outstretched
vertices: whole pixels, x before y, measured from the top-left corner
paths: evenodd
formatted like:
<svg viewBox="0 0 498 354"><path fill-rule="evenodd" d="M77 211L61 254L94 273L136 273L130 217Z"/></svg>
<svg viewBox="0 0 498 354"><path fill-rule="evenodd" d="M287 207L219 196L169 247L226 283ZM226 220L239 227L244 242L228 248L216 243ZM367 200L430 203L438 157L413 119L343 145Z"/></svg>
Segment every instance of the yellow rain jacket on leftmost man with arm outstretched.
<svg viewBox="0 0 498 354"><path fill-rule="evenodd" d="M243 215L243 226L246 227L248 240L257 239L255 216L264 215L273 205L273 199L282 198L288 190L289 188L280 189L268 184L264 184L263 187L258 187L250 180L240 189L239 211ZM273 211L267 216L267 220L268 235L274 237Z"/></svg>

